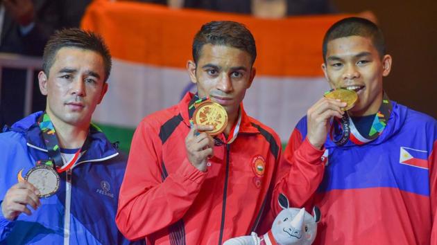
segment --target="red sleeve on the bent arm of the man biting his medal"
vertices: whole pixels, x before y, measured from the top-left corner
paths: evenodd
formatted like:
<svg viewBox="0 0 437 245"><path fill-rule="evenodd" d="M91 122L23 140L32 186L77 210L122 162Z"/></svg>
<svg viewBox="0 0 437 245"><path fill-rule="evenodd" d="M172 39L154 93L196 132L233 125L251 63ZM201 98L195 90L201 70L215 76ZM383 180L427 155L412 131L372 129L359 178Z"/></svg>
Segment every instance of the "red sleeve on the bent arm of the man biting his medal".
<svg viewBox="0 0 437 245"><path fill-rule="evenodd" d="M302 134L296 128L284 149L273 190L271 207L277 215L282 208L277 201L284 194L291 207L311 208L309 203L318 185L323 179L325 170L325 149L316 149L308 139L302 140Z"/></svg>

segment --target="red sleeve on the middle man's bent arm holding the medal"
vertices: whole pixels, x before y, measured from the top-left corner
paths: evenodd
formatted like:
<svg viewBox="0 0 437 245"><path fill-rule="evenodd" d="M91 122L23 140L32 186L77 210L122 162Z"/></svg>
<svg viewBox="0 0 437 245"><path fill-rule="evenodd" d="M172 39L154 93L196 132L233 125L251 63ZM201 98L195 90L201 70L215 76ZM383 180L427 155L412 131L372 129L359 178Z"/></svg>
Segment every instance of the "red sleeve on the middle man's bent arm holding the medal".
<svg viewBox="0 0 437 245"><path fill-rule="evenodd" d="M157 130L143 120L132 138L116 217L128 239L146 237L181 219L205 180L206 173L186 157L168 176L163 165Z"/></svg>

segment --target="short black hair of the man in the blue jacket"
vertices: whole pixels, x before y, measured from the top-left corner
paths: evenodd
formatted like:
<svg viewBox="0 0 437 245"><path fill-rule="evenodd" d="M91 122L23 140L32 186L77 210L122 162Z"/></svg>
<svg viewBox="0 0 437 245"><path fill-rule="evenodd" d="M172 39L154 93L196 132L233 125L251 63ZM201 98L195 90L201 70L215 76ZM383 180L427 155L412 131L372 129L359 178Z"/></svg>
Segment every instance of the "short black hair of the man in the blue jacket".
<svg viewBox="0 0 437 245"><path fill-rule="evenodd" d="M91 31L81 30L79 28L67 28L58 30L53 34L49 42L47 42L44 48L44 54L42 55L42 69L47 76L55 57L61 48L82 48L89 51L94 51L102 56L103 66L105 69L106 82L111 73L112 60L108 46L101 35L93 33Z"/></svg>

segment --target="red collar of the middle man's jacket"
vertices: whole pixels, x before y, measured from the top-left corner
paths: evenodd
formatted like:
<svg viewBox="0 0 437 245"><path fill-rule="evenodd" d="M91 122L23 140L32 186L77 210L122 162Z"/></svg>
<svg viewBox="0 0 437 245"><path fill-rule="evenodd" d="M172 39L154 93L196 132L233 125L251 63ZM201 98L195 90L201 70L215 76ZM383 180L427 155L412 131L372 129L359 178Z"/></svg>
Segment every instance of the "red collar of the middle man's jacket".
<svg viewBox="0 0 437 245"><path fill-rule="evenodd" d="M187 92L184 98L182 98L182 100L180 100L178 104L178 109L183 118L183 122L185 123L185 125L187 125L187 127L190 127L190 123L189 123L190 116L189 116L188 107L193 98L194 98L194 94ZM240 124L239 134L259 134L259 130L256 127L253 127L251 118L246 114L246 111L244 110L243 107L243 102L241 102L240 104L240 109L241 109L240 110L241 124Z"/></svg>

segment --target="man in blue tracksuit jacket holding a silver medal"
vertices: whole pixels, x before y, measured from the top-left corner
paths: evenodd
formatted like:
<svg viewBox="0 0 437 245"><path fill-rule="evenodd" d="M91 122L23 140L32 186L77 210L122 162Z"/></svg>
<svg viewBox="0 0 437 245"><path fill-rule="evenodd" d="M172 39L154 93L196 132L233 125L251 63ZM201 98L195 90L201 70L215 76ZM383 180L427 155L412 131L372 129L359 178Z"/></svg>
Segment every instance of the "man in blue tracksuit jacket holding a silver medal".
<svg viewBox="0 0 437 245"><path fill-rule="evenodd" d="M0 134L0 244L128 244L114 222L126 157L91 124L108 89L108 48L94 33L62 30L43 62L46 111ZM41 165L59 176L55 185L36 174L35 185L58 188L49 197L26 176Z"/></svg>

